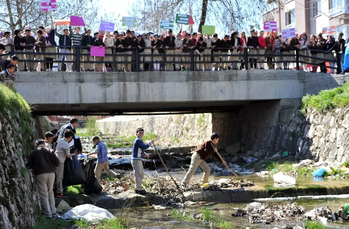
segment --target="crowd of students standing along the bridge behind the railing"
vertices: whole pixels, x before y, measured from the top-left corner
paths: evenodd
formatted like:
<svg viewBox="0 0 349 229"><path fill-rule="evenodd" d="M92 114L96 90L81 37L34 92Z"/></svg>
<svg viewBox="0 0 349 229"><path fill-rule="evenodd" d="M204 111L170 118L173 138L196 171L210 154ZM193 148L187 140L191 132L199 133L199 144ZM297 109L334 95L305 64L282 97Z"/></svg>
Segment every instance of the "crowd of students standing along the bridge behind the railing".
<svg viewBox="0 0 349 229"><path fill-rule="evenodd" d="M289 69L292 63L295 67L295 50L299 49L299 54L302 55L299 60L320 64L321 72L327 71L325 62L329 62L329 65L334 67L336 62L334 53L341 55L340 64L341 67L343 66L344 55L342 54L345 48L343 33L337 35L337 41L332 36L327 36L325 39L321 33L317 36L311 35L309 38L305 32L302 32L299 36L283 39L281 34L276 35L275 32L267 32L265 36L264 31L259 31L258 34L255 30L251 30L248 37L245 32L239 35L235 31L231 35L224 35L222 39L219 39L217 34L211 37L211 35L202 36L201 33L186 31L180 31L174 35L171 29L165 35L161 33L151 36L150 33L143 33L135 36L134 31L127 30L113 33L98 31L92 37L90 29L84 28L84 33L80 33L80 27L75 27L73 31L70 25L59 33L53 26L51 16L51 26L46 28L39 26L35 37L29 26L25 27L24 33L19 29L15 30L13 37L9 31L2 31L0 55L9 53L11 45L15 45L17 58L23 60L17 63L19 71L53 71L52 61L58 59L58 71L77 71L80 68L80 71L129 72L136 70L135 49L138 49L139 66L137 67L140 71L210 71L247 69L248 66L245 66L244 60L245 52L248 52L251 69L264 69L265 66L268 69L275 69L275 67ZM55 42L55 36L58 37L58 44ZM55 45L61 47L56 51L56 48L52 47ZM105 47L106 56L90 56L90 48L93 46ZM191 50L194 52L195 69L191 69ZM81 53L80 66L77 66L76 52ZM2 56L3 59L9 58L6 53ZM284 56L285 54L287 55ZM64 58L67 61L72 60L72 64L66 63L66 67L62 68ZM30 60L45 62L40 62L38 67L38 62L30 62ZM266 61L267 64L263 63ZM304 70L307 70L306 63L301 65ZM6 74L6 78L9 79L12 70L6 68L2 71L5 71L2 74ZM314 65L312 71L317 72L317 66ZM342 67L340 73L343 74L343 72Z"/></svg>

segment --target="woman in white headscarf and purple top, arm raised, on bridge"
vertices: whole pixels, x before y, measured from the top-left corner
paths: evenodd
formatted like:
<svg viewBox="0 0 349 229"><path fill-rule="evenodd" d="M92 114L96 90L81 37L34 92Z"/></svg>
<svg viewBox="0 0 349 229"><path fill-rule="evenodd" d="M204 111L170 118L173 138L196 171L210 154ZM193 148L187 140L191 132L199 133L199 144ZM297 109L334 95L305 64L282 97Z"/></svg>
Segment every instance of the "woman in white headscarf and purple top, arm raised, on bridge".
<svg viewBox="0 0 349 229"><path fill-rule="evenodd" d="M45 39L46 39L46 43L49 45L49 47L47 47L45 49L46 53L57 53L56 52L56 47L52 47L51 45L57 45L57 43L54 41L54 27L53 27L53 19L52 19L52 15L50 12L50 18L51 18L51 26L46 27L45 28ZM45 54L45 59L47 61L52 61L52 62L46 62L46 71L53 71L53 59L57 59L57 55L55 54Z"/></svg>

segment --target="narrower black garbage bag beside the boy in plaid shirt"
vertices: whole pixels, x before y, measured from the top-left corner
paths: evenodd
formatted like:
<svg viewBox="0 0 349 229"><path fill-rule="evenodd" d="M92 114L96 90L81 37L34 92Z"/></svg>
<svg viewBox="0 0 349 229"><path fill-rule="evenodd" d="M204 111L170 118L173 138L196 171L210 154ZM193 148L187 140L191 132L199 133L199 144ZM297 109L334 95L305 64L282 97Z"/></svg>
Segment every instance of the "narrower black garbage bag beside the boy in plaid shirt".
<svg viewBox="0 0 349 229"><path fill-rule="evenodd" d="M102 192L102 185L99 184L98 180L95 177L95 170L93 165L95 160L93 158L84 158L83 170L86 177L86 182L84 185L81 185L81 191L84 194L98 194Z"/></svg>

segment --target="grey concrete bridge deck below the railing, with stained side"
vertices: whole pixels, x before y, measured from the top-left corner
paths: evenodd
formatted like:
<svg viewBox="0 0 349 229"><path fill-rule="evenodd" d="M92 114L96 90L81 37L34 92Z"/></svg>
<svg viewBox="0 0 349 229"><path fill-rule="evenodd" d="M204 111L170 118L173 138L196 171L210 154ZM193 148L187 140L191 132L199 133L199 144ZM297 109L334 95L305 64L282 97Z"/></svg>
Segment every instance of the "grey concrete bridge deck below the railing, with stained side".
<svg viewBox="0 0 349 229"><path fill-rule="evenodd" d="M299 99L346 81L296 70L18 72L16 90L36 115L229 112L260 101Z"/></svg>

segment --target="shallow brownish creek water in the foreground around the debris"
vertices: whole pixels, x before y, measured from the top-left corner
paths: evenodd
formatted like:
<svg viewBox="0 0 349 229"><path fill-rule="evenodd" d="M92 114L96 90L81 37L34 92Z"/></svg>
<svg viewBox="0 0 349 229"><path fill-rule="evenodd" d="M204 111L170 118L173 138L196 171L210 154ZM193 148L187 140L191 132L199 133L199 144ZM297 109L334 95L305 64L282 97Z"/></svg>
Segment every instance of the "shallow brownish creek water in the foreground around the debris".
<svg viewBox="0 0 349 229"><path fill-rule="evenodd" d="M156 171L146 171L146 174L148 176L153 175L160 175L160 176L166 176L166 173L160 173ZM171 175L176 178L182 178L185 175L184 171L179 172L172 172ZM195 173L195 178L201 178L202 173ZM232 178L231 176L216 176L211 175L209 180L217 180L220 178ZM275 188L273 185L273 177L270 176L256 176L256 175L245 175L242 176L244 179L248 179L251 181L254 181L257 185L256 188ZM316 187L331 187L331 186L348 186L349 180L343 180L340 178L316 178L316 177L296 177L297 185L294 186L294 188L298 187L306 187L306 186L312 186L314 188ZM276 197L282 197L276 196ZM293 202L296 202L298 205L303 206L306 211L310 211L315 207L318 206L329 206L333 211L337 211L337 208L340 206L344 206L344 203L349 203L349 198L347 199L295 199L292 200ZM265 202L265 201L260 201ZM250 202L248 202L250 203ZM210 203L209 200L207 200L206 203L198 204L196 206L190 206L186 208L177 208L177 209L184 209L184 211L190 212L190 213L199 213L203 207L210 208L214 215L221 217L221 219L229 221L231 225L235 229L245 229L246 227L250 228L274 228L274 227L282 227L285 224L290 224L291 226L296 225L303 225L302 222L289 219L289 220L283 220L280 222L275 222L270 225L265 224L251 224L248 222L247 217L236 217L231 216L231 214L235 213L236 210L233 208L245 208L248 204L247 202L239 202L239 203ZM268 204L273 203L285 203L285 200L280 201L268 201ZM125 209L111 209L109 210L113 215L118 217L120 213L123 213ZM171 214L172 209L163 209L163 210L155 210L153 207L135 207L130 208L128 213L128 218L130 219L130 227L136 227L136 228L149 228L149 229L158 229L158 228L169 228L169 229L177 229L177 228L211 228L209 224L203 223L201 221L197 220L179 220ZM217 227L213 227L217 228ZM328 222L327 228L333 228L333 229L339 229L339 228L349 228L349 223L343 223L343 222Z"/></svg>

